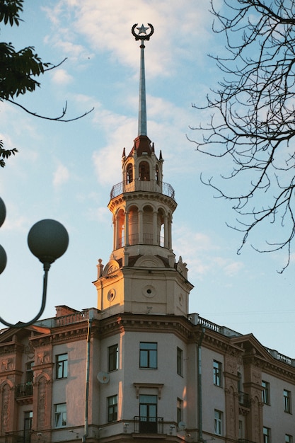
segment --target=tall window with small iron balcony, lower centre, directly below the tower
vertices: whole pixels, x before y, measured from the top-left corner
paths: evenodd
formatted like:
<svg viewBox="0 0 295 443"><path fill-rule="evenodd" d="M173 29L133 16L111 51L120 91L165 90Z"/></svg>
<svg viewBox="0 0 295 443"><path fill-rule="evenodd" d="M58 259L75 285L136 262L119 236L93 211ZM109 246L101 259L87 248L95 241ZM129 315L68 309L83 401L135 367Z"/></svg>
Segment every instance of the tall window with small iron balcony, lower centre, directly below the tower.
<svg viewBox="0 0 295 443"><path fill-rule="evenodd" d="M157 403L157 396L139 396L139 432L157 432Z"/></svg>

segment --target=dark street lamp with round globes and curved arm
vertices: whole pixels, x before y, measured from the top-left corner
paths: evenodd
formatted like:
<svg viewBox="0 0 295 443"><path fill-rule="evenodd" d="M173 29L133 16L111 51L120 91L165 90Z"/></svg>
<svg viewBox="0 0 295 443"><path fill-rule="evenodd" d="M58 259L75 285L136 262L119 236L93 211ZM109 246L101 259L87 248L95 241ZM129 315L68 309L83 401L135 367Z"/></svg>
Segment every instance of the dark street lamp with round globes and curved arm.
<svg viewBox="0 0 295 443"><path fill-rule="evenodd" d="M0 226L3 224L6 217L6 208L3 200L0 197ZM0 317L0 322L9 328L24 328L25 326L30 326L35 321L42 316L46 304L46 294L47 294L47 276L50 270L50 265L61 257L69 245L69 234L67 233L65 227L57 222L56 220L45 219L40 220L40 222L35 223L29 233L28 233L28 247L31 253L35 257L39 258L40 262L43 263L43 293L42 293L42 303L40 311L37 315L27 323L18 322L16 324L9 323ZM6 252L4 248L0 245L0 274L4 271L6 267Z"/></svg>

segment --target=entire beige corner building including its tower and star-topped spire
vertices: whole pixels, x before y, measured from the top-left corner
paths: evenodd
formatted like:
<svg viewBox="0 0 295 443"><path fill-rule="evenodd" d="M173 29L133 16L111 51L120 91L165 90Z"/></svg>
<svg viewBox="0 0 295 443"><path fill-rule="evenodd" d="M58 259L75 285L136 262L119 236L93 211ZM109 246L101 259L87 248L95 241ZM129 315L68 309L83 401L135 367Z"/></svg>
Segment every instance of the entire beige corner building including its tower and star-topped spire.
<svg viewBox="0 0 295 443"><path fill-rule="evenodd" d="M138 33L136 32L138 31ZM148 34L146 31L149 30ZM110 260L96 308L0 335L0 442L293 442L295 360L189 313L175 260L174 190L146 131L141 40L139 133L112 188Z"/></svg>

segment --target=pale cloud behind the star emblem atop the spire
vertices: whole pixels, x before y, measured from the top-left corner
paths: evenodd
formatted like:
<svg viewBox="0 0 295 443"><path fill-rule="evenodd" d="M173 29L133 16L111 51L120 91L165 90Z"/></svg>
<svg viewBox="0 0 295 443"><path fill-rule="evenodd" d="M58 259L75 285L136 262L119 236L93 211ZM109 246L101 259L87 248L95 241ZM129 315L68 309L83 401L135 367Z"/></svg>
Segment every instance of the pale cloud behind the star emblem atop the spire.
<svg viewBox="0 0 295 443"><path fill-rule="evenodd" d="M204 58L204 47L209 47L212 40L208 9L207 0L60 0L53 8L44 8L53 25L50 42L63 42L64 48L71 50L75 40L83 36L92 50L109 51L120 63L134 69L138 54L130 30L139 20L152 23L156 33L149 42L152 76L170 75L181 59ZM69 17L74 17L70 29L64 25Z"/></svg>

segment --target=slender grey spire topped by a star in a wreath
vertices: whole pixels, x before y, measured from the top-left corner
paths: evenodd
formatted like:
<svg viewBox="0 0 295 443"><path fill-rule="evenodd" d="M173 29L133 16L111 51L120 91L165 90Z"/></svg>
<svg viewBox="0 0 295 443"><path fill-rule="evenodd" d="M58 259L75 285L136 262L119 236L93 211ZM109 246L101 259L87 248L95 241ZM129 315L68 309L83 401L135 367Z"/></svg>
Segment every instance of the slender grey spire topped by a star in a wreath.
<svg viewBox="0 0 295 443"><path fill-rule="evenodd" d="M146 30L150 29L149 34L146 34ZM135 32L138 31L138 33ZM143 24L137 27L137 23L132 26L132 35L135 40L141 40L140 45L140 77L139 77L139 116L138 116L138 135L147 136L146 128L146 75L144 68L144 40L149 40L151 35L154 34L154 27L151 23L148 23L146 28Z"/></svg>

